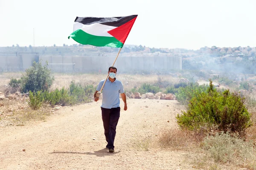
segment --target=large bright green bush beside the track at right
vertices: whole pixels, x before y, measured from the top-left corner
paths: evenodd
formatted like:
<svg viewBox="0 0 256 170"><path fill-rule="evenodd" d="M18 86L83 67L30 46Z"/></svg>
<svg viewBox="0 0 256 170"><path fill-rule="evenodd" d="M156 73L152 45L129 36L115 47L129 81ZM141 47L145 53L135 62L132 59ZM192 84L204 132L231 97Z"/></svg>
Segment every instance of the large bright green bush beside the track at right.
<svg viewBox="0 0 256 170"><path fill-rule="evenodd" d="M251 114L245 108L244 98L237 93L230 94L229 90L217 92L211 80L207 92L192 91L191 96L188 110L176 116L181 128L196 130L217 125L218 130L225 132L244 132L252 125Z"/></svg>

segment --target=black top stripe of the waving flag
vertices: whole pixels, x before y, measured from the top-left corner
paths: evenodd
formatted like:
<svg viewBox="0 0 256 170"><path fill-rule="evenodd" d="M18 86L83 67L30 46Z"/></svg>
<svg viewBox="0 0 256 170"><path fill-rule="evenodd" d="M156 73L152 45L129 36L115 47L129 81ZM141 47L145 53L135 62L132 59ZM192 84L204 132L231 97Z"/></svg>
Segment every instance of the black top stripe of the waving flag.
<svg viewBox="0 0 256 170"><path fill-rule="evenodd" d="M130 20L134 19L138 15L130 15L126 17L76 17L75 22L82 23L84 25L90 25L93 23L100 23L107 26L114 26L119 27L123 24L129 22Z"/></svg>

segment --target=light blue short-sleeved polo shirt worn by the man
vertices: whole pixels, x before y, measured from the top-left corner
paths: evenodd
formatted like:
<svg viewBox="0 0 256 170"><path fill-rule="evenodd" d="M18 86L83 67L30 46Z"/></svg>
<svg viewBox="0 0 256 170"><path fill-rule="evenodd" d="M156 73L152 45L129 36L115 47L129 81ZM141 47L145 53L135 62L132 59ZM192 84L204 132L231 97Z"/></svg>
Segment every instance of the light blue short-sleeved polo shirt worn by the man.
<svg viewBox="0 0 256 170"><path fill-rule="evenodd" d="M105 79L99 82L97 91L100 91ZM122 82L115 80L111 82L107 79L103 89L102 89L102 108L111 109L120 107L119 94L125 93Z"/></svg>

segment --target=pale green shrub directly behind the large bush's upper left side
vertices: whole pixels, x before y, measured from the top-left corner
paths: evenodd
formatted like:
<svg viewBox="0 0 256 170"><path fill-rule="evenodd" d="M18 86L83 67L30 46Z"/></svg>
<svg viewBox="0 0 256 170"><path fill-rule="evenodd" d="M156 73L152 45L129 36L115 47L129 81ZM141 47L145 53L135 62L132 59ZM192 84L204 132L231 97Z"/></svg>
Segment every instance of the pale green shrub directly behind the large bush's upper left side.
<svg viewBox="0 0 256 170"><path fill-rule="evenodd" d="M202 92L207 91L207 85L199 85L198 83L189 83L186 87L178 88L177 93L175 94L176 99L180 104L188 104L189 100L194 96L201 94Z"/></svg>

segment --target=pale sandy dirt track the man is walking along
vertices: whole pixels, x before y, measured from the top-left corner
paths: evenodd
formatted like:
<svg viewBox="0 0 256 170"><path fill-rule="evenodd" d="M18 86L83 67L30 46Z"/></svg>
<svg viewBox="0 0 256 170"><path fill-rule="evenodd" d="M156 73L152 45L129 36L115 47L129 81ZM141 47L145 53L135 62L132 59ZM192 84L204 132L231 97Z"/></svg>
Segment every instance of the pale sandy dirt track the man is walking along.
<svg viewBox="0 0 256 170"><path fill-rule="evenodd" d="M185 153L160 149L156 142L164 127L177 127L177 101L128 99L128 111L121 101L114 153L105 149L101 102L64 107L43 122L1 127L0 169L193 169Z"/></svg>

